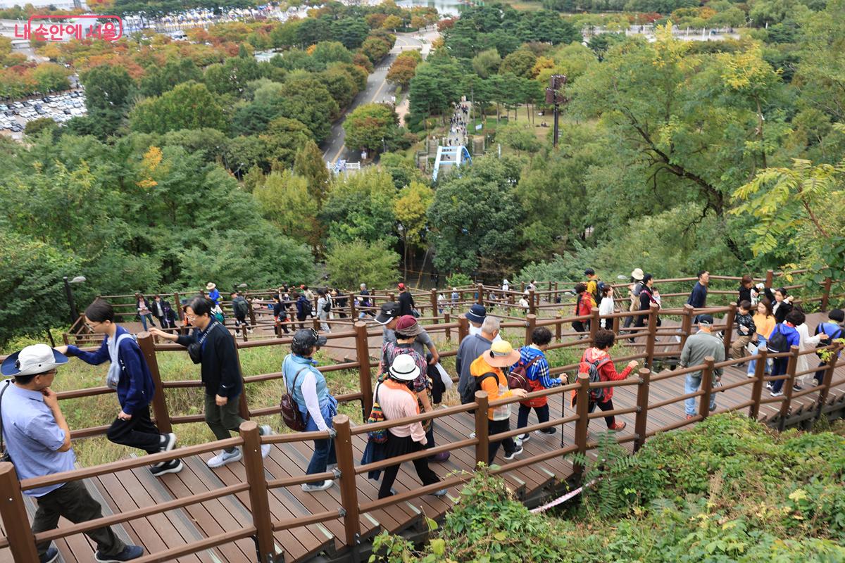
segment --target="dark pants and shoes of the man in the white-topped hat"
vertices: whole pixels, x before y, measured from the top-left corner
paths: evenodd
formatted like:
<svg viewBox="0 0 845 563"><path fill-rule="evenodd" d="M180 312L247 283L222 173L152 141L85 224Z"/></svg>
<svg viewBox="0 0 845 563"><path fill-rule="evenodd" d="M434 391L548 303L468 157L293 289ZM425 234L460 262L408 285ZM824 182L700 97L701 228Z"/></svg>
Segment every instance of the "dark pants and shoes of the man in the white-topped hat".
<svg viewBox="0 0 845 563"><path fill-rule="evenodd" d="M88 522L101 518L103 515L100 503L95 501L85 488L84 481L69 481L56 490L51 490L35 499L38 510L32 520L32 533L47 532L58 527L58 518L65 517L75 523ZM112 532L112 528L96 528L85 532L97 544L97 550L104 555L117 555L126 547ZM35 546L38 555L45 555L50 548L50 542L43 542Z"/></svg>

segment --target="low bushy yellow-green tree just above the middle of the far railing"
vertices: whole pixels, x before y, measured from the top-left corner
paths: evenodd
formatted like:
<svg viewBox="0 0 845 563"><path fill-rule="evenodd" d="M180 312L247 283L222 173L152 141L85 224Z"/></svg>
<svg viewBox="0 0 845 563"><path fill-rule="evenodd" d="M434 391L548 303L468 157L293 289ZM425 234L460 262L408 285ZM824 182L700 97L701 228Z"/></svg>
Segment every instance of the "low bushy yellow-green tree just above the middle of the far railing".
<svg viewBox="0 0 845 563"><path fill-rule="evenodd" d="M370 287L390 287L399 279L399 255L385 241L329 241L325 267L331 283L357 287L366 280Z"/></svg>

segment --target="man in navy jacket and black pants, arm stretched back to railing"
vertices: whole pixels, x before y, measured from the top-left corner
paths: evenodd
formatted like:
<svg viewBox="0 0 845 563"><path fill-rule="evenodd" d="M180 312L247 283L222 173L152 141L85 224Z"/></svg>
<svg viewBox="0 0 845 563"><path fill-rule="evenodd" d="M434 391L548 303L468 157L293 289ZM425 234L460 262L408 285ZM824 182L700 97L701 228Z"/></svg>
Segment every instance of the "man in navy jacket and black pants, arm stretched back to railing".
<svg viewBox="0 0 845 563"><path fill-rule="evenodd" d="M74 346L59 346L57 350L90 365L110 362L106 386L117 391L120 412L106 430L106 438L115 444L137 447L147 453L169 452L176 447L176 435L161 434L150 420L150 403L155 394L155 384L150 367L144 359L132 334L114 322L112 304L97 299L85 309L85 323L95 334L103 334L102 344L96 352L85 352ZM156 463L150 468L155 477L182 471L178 459Z"/></svg>

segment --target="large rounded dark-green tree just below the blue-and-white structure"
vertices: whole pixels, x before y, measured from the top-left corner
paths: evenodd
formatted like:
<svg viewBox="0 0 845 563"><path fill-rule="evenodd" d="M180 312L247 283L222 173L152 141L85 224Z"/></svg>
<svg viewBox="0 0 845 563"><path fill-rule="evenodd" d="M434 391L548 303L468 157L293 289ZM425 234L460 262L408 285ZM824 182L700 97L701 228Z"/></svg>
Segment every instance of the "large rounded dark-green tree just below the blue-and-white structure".
<svg viewBox="0 0 845 563"><path fill-rule="evenodd" d="M518 181L515 162L484 156L462 167L460 175L438 182L428 219L439 270L509 269L519 249L523 217L514 190Z"/></svg>

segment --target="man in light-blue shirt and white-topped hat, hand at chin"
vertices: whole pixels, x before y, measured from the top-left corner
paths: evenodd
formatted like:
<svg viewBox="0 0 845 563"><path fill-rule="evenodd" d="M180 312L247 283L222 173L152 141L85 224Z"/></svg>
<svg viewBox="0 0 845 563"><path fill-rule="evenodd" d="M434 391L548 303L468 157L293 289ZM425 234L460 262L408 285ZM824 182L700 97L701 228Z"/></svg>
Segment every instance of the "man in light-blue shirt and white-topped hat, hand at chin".
<svg viewBox="0 0 845 563"><path fill-rule="evenodd" d="M56 392L50 388L57 367L67 362L68 357L61 352L46 344L34 344L10 355L0 367L4 376L14 376L14 381L3 383L8 387L0 402L0 421L6 450L19 479L74 469L76 457L70 446L68 422L58 407ZM102 517L100 503L80 481L26 490L25 494L35 497L38 503L32 533L56 529L59 517L74 523ZM95 560L99 563L128 561L144 554L137 545L123 544L111 528L97 528L85 535L96 542ZM58 549L50 542L37 544L36 548L40 563L58 559Z"/></svg>

